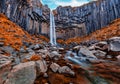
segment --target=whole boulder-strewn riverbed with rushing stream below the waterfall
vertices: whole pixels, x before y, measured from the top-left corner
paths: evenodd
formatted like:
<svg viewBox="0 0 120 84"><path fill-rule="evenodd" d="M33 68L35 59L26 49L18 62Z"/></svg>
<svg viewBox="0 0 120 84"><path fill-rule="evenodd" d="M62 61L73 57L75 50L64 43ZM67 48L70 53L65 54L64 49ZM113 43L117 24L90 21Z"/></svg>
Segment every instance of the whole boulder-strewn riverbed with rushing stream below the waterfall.
<svg viewBox="0 0 120 84"><path fill-rule="evenodd" d="M120 37L88 44L26 43L16 51L1 42L0 84L119 84Z"/></svg>

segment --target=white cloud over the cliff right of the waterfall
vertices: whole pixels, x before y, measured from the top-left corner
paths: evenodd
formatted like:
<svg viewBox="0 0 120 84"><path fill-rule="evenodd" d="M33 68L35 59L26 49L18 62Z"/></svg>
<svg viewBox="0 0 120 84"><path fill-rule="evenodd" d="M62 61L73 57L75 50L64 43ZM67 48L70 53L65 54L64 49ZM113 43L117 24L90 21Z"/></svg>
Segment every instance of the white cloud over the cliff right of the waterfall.
<svg viewBox="0 0 120 84"><path fill-rule="evenodd" d="M55 1L56 5L61 5L61 6L81 6L85 3L88 3L88 0L81 0L81 1L77 1L77 0L71 0L70 2L62 2L62 1Z"/></svg>

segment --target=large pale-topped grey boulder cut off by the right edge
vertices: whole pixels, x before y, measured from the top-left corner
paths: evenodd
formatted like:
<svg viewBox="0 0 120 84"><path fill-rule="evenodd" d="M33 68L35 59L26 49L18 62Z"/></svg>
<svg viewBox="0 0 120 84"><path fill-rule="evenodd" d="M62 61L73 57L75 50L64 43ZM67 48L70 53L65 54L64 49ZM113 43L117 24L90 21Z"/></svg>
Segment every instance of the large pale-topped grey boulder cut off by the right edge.
<svg viewBox="0 0 120 84"><path fill-rule="evenodd" d="M109 39L111 51L120 51L120 37L113 37Z"/></svg>

